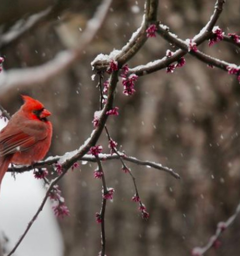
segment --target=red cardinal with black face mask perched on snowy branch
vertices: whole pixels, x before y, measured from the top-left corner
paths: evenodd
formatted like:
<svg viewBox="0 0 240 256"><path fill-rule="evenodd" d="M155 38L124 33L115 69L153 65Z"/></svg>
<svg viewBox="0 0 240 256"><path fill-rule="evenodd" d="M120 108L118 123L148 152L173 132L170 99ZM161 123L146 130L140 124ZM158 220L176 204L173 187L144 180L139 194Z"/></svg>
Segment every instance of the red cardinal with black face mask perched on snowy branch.
<svg viewBox="0 0 240 256"><path fill-rule="evenodd" d="M25 101L0 132L0 186L10 163L33 164L46 155L52 138L51 113L38 100Z"/></svg>

